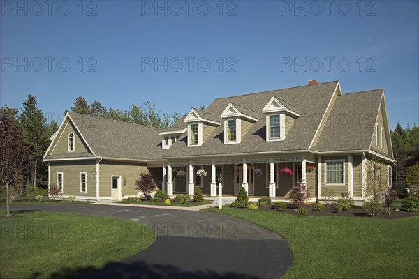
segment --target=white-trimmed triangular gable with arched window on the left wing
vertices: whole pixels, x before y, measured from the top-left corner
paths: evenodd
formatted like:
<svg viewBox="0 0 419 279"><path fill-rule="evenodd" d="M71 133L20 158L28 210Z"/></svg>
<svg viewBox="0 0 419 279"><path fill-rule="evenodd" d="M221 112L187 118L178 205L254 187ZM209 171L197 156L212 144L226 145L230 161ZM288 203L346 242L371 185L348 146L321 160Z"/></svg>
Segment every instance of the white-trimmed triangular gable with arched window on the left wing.
<svg viewBox="0 0 419 279"><path fill-rule="evenodd" d="M70 133L74 135L74 151L68 151L68 135ZM61 129L57 131L57 135L54 137L46 156L66 153L91 153L82 136L78 133L77 128L75 128L75 125L68 117L64 120Z"/></svg>

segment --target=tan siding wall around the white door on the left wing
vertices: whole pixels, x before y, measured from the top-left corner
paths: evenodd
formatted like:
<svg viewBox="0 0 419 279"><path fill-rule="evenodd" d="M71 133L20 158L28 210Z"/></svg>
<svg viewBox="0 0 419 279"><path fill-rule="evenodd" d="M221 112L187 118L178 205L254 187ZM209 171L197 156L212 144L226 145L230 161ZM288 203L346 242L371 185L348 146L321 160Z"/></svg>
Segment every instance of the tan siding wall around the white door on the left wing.
<svg viewBox="0 0 419 279"><path fill-rule="evenodd" d="M149 171L147 169L147 165L144 163L128 163L103 160L99 167L99 194L101 197L111 196L111 176L116 175L121 176L122 196L137 195L138 190L134 189L135 179L138 179L140 174L148 172ZM124 179L126 179L126 184L124 184ZM161 180L156 181L157 185L159 185L159 181Z"/></svg>

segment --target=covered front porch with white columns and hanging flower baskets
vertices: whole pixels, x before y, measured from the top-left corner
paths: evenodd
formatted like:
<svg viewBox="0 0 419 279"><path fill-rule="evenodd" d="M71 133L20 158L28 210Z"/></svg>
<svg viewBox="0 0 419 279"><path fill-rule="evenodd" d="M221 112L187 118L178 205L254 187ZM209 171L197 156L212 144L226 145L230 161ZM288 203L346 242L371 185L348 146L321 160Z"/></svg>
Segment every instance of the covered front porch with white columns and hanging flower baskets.
<svg viewBox="0 0 419 279"><path fill-rule="evenodd" d="M284 200L293 185L307 182L311 197L316 197L316 172L306 172L307 165L317 168L316 158L306 156L281 156L265 158L234 158L228 160L169 161L163 165L161 188L168 195L185 194L193 196L195 187L203 190L205 199L219 195L221 176L223 199L235 199L240 188L247 190L249 199L257 201L267 196L272 200ZM281 169L288 168L292 174L281 175ZM198 176L203 169L206 176ZM179 176L178 174L184 174Z"/></svg>

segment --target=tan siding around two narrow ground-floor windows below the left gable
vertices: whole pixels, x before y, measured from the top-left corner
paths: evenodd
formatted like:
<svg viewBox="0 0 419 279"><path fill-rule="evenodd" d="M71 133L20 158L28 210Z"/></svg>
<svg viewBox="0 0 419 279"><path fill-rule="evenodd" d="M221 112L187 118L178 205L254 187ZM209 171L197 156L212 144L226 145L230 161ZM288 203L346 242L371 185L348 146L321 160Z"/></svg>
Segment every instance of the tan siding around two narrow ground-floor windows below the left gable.
<svg viewBox="0 0 419 279"><path fill-rule="evenodd" d="M51 184L57 184L57 172L63 172L62 195L96 197L96 165L94 160L50 162ZM80 193L80 172L87 172L87 193Z"/></svg>

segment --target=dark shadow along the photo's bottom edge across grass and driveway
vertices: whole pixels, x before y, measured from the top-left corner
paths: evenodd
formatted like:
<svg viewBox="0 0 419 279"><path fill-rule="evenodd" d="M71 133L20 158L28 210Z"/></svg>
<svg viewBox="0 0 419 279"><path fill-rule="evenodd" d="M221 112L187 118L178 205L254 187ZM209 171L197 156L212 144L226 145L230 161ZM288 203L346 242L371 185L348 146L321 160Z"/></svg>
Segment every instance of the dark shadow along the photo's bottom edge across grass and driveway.
<svg viewBox="0 0 419 279"><path fill-rule="evenodd" d="M242 273L217 273L215 271L200 270L186 271L169 264L147 264L144 261L131 263L110 262L103 269L94 269L94 266L77 266L71 268L64 266L60 271L50 275L54 278L256 278ZM30 279L43 277L41 272L32 273Z"/></svg>

